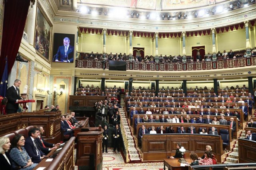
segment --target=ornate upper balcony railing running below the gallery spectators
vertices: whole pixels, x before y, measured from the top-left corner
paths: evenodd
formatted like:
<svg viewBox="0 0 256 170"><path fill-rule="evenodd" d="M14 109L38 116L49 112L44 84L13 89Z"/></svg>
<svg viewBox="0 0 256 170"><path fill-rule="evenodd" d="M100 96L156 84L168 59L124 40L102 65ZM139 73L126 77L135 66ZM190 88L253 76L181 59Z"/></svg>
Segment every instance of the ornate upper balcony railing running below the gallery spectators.
<svg viewBox="0 0 256 170"><path fill-rule="evenodd" d="M242 57L236 59L226 59L217 61L201 61L188 63L148 63L148 62L129 62L126 61L126 70L145 70L145 71L181 71L181 70L212 70L222 68L236 68L256 65L256 56ZM76 59L77 68L103 68L102 60ZM108 69L108 61L105 62Z"/></svg>

